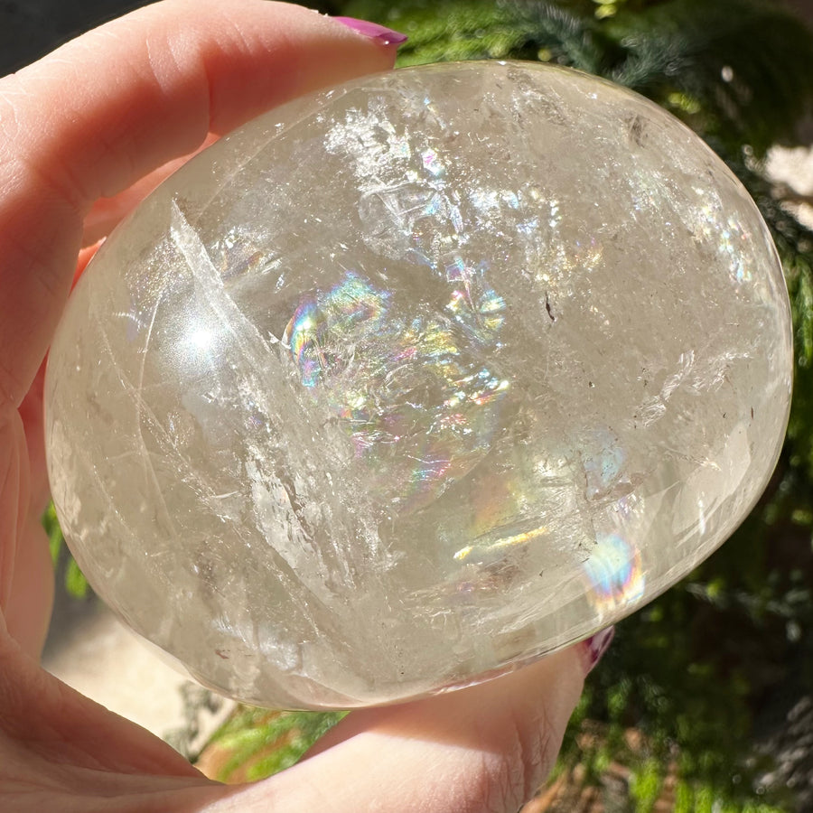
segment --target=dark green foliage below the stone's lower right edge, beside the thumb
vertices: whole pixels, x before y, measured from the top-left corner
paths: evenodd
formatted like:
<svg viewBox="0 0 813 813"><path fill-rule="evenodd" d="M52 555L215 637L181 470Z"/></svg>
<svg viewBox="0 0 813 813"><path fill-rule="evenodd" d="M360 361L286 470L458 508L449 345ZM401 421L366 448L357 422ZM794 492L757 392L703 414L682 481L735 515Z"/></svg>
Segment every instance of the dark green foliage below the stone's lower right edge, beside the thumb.
<svg viewBox="0 0 813 813"><path fill-rule="evenodd" d="M670 765L677 771L676 809L793 809L789 792L763 790L770 755L754 752L760 710L788 687L811 686L813 589L811 494L786 462L774 499L765 501L715 556L687 580L619 626L612 649L591 677L565 741L565 762L608 760L635 775L631 797L646 809ZM603 736L580 740L585 720ZM645 743L631 751L625 734ZM644 805L640 808L640 805Z"/></svg>

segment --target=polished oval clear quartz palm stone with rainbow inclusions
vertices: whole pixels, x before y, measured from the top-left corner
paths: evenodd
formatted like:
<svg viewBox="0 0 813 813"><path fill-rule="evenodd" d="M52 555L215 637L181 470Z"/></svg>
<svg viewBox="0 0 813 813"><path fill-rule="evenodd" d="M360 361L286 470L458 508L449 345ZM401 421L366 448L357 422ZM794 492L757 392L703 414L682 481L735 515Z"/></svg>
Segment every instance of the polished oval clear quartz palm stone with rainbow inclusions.
<svg viewBox="0 0 813 813"><path fill-rule="evenodd" d="M51 350L91 584L270 706L462 686L665 590L788 414L756 207L659 107L539 64L294 101L154 192Z"/></svg>

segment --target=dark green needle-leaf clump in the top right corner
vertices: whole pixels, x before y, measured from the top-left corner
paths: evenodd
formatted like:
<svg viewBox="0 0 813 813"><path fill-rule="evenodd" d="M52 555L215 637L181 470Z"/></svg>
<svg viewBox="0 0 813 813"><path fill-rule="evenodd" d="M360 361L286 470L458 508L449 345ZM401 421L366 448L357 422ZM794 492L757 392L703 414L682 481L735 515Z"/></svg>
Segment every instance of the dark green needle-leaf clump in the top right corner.
<svg viewBox="0 0 813 813"><path fill-rule="evenodd" d="M623 8L605 29L623 50L607 74L732 150L792 138L813 98L813 40L779 5L671 0ZM682 101L677 102L677 99ZM687 101L691 107L687 109Z"/></svg>

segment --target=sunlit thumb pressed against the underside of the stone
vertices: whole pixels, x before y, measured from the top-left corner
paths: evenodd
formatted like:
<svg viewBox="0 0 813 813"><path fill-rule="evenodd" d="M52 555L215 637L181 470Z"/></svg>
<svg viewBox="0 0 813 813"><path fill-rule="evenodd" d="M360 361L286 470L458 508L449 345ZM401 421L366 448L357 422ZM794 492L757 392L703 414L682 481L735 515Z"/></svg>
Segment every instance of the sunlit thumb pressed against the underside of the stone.
<svg viewBox="0 0 813 813"><path fill-rule="evenodd" d="M592 642L504 677L401 706L355 711L304 762L221 789L207 813L516 813L556 760L596 658ZM276 809L276 808L274 808Z"/></svg>

